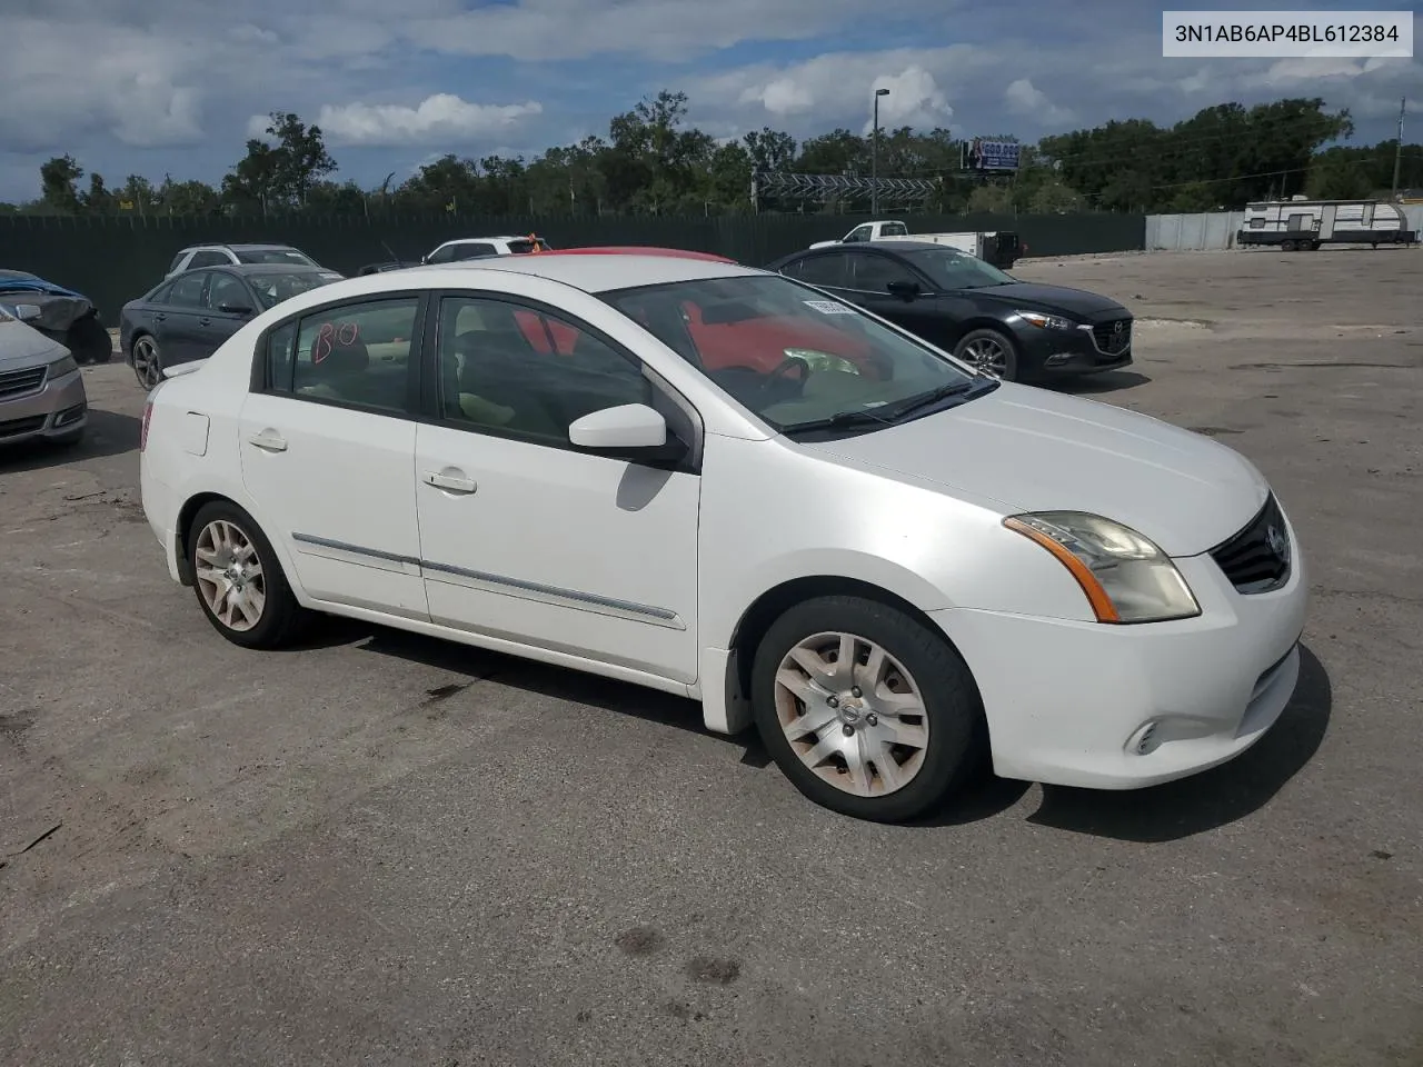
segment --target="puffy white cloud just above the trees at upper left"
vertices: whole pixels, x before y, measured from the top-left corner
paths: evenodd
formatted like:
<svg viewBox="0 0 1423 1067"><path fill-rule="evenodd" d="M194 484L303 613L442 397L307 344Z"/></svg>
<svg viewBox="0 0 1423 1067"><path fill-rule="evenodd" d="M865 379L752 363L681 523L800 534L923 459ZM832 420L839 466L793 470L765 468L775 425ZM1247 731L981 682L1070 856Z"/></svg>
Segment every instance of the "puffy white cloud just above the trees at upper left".
<svg viewBox="0 0 1423 1067"><path fill-rule="evenodd" d="M394 147L450 144L504 132L544 114L534 100L524 104L471 104L451 92L425 97L416 107L400 104L324 105L316 117L332 147Z"/></svg>

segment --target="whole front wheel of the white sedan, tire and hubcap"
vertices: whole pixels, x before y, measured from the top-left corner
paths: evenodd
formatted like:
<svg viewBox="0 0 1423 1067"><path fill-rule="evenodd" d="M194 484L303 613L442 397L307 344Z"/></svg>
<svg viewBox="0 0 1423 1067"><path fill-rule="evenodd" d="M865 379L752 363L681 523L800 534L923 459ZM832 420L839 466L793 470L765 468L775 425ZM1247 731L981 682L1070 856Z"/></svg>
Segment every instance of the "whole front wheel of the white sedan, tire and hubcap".
<svg viewBox="0 0 1423 1067"><path fill-rule="evenodd" d="M751 670L767 750L810 800L877 822L939 804L979 764L982 704L943 637L875 600L787 610Z"/></svg>

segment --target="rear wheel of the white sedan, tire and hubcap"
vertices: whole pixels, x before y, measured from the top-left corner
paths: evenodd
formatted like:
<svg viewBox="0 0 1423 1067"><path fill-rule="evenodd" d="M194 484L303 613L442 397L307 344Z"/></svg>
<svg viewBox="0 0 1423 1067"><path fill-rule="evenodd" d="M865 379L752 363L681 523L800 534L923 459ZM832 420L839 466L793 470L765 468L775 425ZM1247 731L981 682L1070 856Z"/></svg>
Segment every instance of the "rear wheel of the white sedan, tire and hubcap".
<svg viewBox="0 0 1423 1067"><path fill-rule="evenodd" d="M203 505L188 529L188 565L208 622L233 644L276 649L306 619L272 542L242 508Z"/></svg>

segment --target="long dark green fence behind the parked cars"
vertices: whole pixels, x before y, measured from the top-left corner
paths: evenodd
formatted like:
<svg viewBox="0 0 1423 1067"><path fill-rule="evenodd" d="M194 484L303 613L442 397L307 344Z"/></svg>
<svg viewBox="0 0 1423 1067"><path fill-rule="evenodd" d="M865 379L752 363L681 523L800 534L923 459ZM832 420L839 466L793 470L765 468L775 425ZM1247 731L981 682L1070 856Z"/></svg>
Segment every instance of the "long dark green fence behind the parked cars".
<svg viewBox="0 0 1423 1067"><path fill-rule="evenodd" d="M542 235L554 248L663 245L716 252L761 266L777 256L830 240L864 222L850 215L717 218L53 218L0 216L0 267L30 270L88 296L107 323L128 300L157 285L174 253L206 242L296 245L333 270L418 259L451 238L481 233ZM1015 230L1032 256L1127 252L1146 248L1144 215L921 215L912 233Z"/></svg>

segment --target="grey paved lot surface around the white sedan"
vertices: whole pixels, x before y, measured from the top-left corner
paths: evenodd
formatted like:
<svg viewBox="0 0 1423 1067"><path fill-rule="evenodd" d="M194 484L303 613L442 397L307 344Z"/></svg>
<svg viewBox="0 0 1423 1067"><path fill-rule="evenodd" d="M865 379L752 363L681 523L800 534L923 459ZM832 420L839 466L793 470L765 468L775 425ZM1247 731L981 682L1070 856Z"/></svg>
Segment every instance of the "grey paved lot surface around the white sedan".
<svg viewBox="0 0 1423 1067"><path fill-rule="evenodd" d="M0 457L0 1063L1423 1063L1423 252L1019 273L1146 320L1076 391L1291 509L1313 616L1257 748L885 828L684 701L339 623L245 653L90 370L87 445Z"/></svg>

